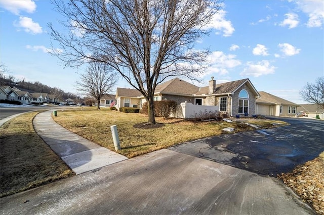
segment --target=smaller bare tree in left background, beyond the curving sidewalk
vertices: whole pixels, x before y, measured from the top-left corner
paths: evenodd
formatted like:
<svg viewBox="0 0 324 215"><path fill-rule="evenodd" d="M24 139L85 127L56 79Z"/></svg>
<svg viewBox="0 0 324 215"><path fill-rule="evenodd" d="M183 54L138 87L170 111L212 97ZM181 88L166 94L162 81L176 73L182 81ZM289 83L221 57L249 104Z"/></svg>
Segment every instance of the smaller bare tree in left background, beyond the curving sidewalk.
<svg viewBox="0 0 324 215"><path fill-rule="evenodd" d="M80 81L76 82L76 89L95 98L99 110L100 99L112 90L112 87L118 81L117 74L107 64L92 62L85 73L80 75Z"/></svg>

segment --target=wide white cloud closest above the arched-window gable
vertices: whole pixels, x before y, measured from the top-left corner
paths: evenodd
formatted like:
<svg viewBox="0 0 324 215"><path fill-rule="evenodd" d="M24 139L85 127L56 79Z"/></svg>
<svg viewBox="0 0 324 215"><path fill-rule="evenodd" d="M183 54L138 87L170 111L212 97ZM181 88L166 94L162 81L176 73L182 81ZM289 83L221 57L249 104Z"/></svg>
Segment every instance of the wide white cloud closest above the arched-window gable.
<svg viewBox="0 0 324 215"><path fill-rule="evenodd" d="M240 73L241 76L254 76L273 74L276 68L269 61L263 60L257 63L248 62L247 67Z"/></svg>

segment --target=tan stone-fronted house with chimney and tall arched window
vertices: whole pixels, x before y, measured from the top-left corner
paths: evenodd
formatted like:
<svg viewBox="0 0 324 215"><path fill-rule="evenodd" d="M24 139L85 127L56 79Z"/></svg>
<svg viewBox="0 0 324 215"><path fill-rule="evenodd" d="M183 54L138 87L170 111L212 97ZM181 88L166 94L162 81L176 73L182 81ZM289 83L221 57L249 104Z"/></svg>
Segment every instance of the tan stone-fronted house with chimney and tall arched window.
<svg viewBox="0 0 324 215"><path fill-rule="evenodd" d="M249 79L216 84L214 77L206 87L198 87L179 78L156 86L154 100L175 100L178 104L190 102L196 105L219 106L219 111L230 116L255 115L259 97ZM135 89L117 88L117 108L131 106L141 108L144 96Z"/></svg>

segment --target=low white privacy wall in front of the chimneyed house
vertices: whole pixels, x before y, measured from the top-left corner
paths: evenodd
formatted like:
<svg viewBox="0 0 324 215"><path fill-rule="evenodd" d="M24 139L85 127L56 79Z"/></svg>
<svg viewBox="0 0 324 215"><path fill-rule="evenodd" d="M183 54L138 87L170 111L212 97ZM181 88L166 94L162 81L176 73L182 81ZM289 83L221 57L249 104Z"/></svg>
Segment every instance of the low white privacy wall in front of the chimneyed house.
<svg viewBox="0 0 324 215"><path fill-rule="evenodd" d="M194 105L192 103L183 102L180 104L179 118L192 119L199 118L206 114L218 112L218 106L207 106L207 105Z"/></svg>

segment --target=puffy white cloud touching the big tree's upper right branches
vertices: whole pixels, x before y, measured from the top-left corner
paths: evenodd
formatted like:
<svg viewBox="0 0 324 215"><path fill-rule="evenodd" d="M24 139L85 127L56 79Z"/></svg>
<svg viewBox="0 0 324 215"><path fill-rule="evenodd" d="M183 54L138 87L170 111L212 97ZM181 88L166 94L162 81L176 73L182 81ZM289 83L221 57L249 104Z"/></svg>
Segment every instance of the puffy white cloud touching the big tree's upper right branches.
<svg viewBox="0 0 324 215"><path fill-rule="evenodd" d="M225 19L226 11L219 10L212 18L211 22L204 26L203 29L214 28L218 30L216 34L220 34L219 31L223 32L223 36L231 36L235 29L232 26L232 22Z"/></svg>

